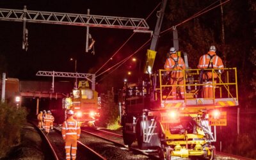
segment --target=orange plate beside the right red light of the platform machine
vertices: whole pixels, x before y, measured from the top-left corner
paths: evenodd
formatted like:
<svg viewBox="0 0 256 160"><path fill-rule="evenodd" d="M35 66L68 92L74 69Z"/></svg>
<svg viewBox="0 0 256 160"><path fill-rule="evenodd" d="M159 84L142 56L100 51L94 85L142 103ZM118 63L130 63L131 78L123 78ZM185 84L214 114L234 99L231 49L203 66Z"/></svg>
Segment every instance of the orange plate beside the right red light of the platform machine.
<svg viewBox="0 0 256 160"><path fill-rule="evenodd" d="M218 125L218 126L226 126L227 125L227 112L220 112L219 116L214 115L214 113L209 113L209 124L210 125Z"/></svg>

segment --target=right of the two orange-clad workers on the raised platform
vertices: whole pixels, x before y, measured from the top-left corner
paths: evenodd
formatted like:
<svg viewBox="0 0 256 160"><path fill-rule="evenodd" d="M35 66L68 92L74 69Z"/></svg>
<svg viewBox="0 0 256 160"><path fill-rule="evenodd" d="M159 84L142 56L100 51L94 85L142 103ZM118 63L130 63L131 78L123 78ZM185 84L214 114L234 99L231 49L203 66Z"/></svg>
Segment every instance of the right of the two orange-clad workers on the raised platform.
<svg viewBox="0 0 256 160"><path fill-rule="evenodd" d="M224 68L224 65L222 63L222 60L219 56L216 55L216 47L214 45L211 45L209 52L207 54L204 54L203 56L200 57L199 63L198 63L198 68L204 69L204 68ZM202 80L203 80L203 97L204 98L213 98L213 93L215 86L213 86L212 83L216 83L216 78L217 78L217 70L214 70L213 76L212 76L212 70L202 70L203 74ZM219 73L222 72L222 70L218 70ZM212 80L214 80L212 82Z"/></svg>

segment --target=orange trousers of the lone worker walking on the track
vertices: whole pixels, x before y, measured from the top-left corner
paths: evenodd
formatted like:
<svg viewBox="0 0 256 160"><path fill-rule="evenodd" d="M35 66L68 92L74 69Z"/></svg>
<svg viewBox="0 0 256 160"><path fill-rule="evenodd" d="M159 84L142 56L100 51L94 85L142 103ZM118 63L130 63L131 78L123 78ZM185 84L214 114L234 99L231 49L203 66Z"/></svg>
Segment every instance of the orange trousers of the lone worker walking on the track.
<svg viewBox="0 0 256 160"><path fill-rule="evenodd" d="M65 140L65 150L66 150L66 160L70 160L70 150L71 150L72 160L75 160L76 150L77 150L77 140L74 138Z"/></svg>

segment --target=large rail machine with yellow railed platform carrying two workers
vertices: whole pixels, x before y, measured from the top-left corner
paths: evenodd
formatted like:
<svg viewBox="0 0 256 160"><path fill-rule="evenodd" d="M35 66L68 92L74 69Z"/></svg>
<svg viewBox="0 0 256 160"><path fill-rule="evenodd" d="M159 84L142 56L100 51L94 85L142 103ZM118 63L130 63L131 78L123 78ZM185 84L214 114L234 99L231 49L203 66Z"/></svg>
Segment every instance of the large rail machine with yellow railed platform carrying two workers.
<svg viewBox="0 0 256 160"><path fill-rule="evenodd" d="M202 97L202 72L212 76L214 97ZM140 149L155 149L161 159L199 157L214 159L216 125L227 125L227 113L221 108L238 105L237 70L207 68L182 70L184 84L170 84L159 70L138 83L125 84L122 126L125 145L138 142ZM184 88L184 99L174 99L172 88ZM175 97L176 98L176 97Z"/></svg>

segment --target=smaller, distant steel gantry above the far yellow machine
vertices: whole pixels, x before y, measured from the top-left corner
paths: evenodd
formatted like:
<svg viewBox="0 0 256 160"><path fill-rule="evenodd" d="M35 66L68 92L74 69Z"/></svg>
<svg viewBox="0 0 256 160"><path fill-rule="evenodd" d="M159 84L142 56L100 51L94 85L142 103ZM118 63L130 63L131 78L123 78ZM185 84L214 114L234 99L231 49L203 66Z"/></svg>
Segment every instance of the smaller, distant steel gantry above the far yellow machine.
<svg viewBox="0 0 256 160"><path fill-rule="evenodd" d="M83 74L72 72L50 72L50 71L38 71L36 76L52 77L52 92L54 92L54 77L69 77L69 78L84 78L92 83L92 90L95 90L95 74Z"/></svg>

